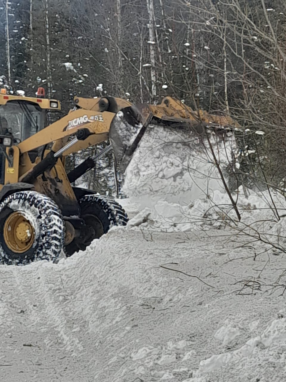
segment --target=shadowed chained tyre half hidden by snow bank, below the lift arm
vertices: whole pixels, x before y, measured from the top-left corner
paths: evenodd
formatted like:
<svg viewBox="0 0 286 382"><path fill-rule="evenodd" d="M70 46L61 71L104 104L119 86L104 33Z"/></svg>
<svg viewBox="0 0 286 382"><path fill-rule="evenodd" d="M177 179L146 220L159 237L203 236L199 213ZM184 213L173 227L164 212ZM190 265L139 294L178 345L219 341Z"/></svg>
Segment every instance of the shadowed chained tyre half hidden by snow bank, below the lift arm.
<svg viewBox="0 0 286 382"><path fill-rule="evenodd" d="M85 237L74 239L65 248L66 255L71 256L78 251L84 251L93 240L99 239L112 226L125 226L127 214L115 200L101 195L85 195L79 199L80 218L84 219L87 229Z"/></svg>

